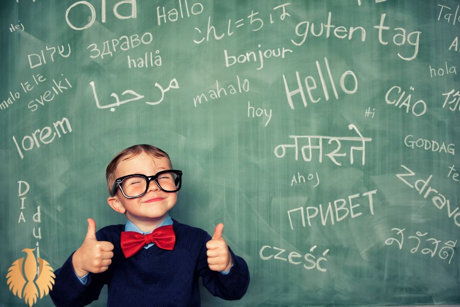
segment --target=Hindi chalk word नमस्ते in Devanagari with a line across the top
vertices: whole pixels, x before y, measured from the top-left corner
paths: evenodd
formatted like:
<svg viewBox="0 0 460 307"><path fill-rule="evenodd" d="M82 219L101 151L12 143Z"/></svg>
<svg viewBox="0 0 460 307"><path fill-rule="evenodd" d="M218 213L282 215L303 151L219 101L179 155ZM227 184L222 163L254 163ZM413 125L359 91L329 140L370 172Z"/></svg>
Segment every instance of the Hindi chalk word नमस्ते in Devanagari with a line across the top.
<svg viewBox="0 0 460 307"><path fill-rule="evenodd" d="M310 162L312 160L312 149L317 149L319 150L319 157L318 157L318 162L321 163L323 162L323 139L327 139L328 144L331 145L332 142L335 142L336 148L331 151L330 153L327 153L326 156L331 159L334 164L341 166L341 162L338 162L335 157L346 157L347 152L341 152L338 153L338 151L341 148L341 142L340 141L350 141L350 142L355 142L358 141L361 143L361 146L351 146L350 148L350 164L353 164L354 159L353 159L353 151L354 150L360 150L362 151L362 159L361 159L361 164L365 164L365 142L370 142L372 141L371 138L364 138L361 133L359 132L358 128L350 124L348 125L348 128L350 130L355 130L356 133L358 134L359 137L326 137L326 136L289 136L289 138L294 139L294 144L283 144L283 145L278 145L274 149L274 155L277 158L283 158L286 156L286 148L294 148L295 153L295 161L298 160L298 140L303 140L307 139L308 145L304 145L301 147L301 152L302 152L302 158L306 162ZM318 139L318 145L312 145L311 144L311 139ZM306 154L306 150L308 149L308 154Z"/></svg>

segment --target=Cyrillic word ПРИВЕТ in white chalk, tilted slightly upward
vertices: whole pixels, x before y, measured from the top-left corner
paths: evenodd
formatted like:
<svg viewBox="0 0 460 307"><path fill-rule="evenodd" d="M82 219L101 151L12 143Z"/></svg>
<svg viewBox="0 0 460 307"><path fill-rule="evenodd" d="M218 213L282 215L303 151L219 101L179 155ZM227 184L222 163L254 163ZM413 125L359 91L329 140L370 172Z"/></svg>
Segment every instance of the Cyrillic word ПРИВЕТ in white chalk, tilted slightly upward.
<svg viewBox="0 0 460 307"><path fill-rule="evenodd" d="M300 212L300 220L302 221L302 226L305 228L307 224L309 227L312 226L312 219L316 217L318 219L318 213L320 218L320 223L323 226L328 224L328 220L330 221L331 225L335 225L335 223L341 222L345 220L347 217L355 218L364 214L364 211L359 211L359 207L361 207L360 203L358 202L358 198L361 198L359 202L364 205L369 205L369 213L374 215L374 200L373 195L377 193L377 190L367 191L364 193L356 193L353 195L349 195L347 199L338 199L334 202L329 202L327 206L323 206L319 204L318 207L308 206L298 207L294 209L290 209L287 211L289 217L289 224L291 226L291 230L294 230L293 225L293 218L291 214L294 215L294 212ZM365 198L364 196L367 196ZM367 201L367 203L364 203ZM305 218L306 217L306 218ZM299 218L296 218L295 221L298 221ZM305 222L307 221L307 223Z"/></svg>

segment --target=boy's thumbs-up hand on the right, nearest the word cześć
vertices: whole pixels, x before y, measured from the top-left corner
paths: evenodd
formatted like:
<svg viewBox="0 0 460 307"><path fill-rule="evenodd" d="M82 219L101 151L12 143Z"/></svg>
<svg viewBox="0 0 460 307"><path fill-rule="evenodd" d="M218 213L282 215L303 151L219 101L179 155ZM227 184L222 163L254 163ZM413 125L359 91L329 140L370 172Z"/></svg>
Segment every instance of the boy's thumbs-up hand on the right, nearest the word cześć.
<svg viewBox="0 0 460 307"><path fill-rule="evenodd" d="M208 251L208 266L213 271L228 271L233 265L232 255L228 246L222 238L223 224L219 223L214 230L211 240L206 243Z"/></svg>

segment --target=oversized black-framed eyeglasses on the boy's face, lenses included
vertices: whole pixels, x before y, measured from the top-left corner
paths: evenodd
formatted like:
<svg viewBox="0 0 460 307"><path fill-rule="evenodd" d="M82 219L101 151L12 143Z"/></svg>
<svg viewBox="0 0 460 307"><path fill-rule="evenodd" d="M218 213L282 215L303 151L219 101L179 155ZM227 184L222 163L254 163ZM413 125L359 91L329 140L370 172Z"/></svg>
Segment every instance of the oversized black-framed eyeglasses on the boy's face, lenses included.
<svg viewBox="0 0 460 307"><path fill-rule="evenodd" d="M150 181L154 181L162 191L177 192L182 184L181 176L182 171L176 169L162 170L153 176L145 176L144 174L123 176L113 183L110 196L113 197L117 187L119 187L123 196L128 199L140 197L149 189Z"/></svg>

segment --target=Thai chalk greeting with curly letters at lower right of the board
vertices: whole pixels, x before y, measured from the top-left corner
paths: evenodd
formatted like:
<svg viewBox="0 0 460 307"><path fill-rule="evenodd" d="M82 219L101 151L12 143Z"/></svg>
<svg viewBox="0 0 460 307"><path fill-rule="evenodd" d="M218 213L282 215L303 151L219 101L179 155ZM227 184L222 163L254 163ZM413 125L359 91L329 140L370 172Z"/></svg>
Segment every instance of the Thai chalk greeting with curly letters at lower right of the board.
<svg viewBox="0 0 460 307"><path fill-rule="evenodd" d="M402 248L404 246L404 243L405 243L404 242L404 231L405 230L406 230L405 228L403 228L403 229L392 228L392 231L396 231L395 237L387 238L385 240L385 244L386 245L393 245L393 243L396 243L398 245L398 248L400 250L402 250ZM425 245L428 245L428 247L420 250L420 252L422 254L429 255L431 258L433 258L437 253L437 255L441 259L449 258L448 264L450 264L450 261L452 261L452 257L454 255L454 249L455 249L455 246L457 244L457 240L455 240L455 241L449 240L449 241L445 242L444 246L442 248L440 248L439 251L438 251L438 248L441 245L440 244L441 240L436 239L436 238L427 238L427 239L425 239L425 237L427 235L428 235L428 232L422 233L420 231L416 231L416 235L409 236L408 239L412 239L412 241L409 241L409 240L408 241L413 242L413 240L415 240L415 243L416 243L416 246L412 247L410 249L410 252L412 254L415 254L415 253L417 253L417 251L419 251L420 244L422 242L421 239L423 238L424 242L426 243Z"/></svg>

